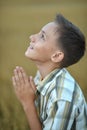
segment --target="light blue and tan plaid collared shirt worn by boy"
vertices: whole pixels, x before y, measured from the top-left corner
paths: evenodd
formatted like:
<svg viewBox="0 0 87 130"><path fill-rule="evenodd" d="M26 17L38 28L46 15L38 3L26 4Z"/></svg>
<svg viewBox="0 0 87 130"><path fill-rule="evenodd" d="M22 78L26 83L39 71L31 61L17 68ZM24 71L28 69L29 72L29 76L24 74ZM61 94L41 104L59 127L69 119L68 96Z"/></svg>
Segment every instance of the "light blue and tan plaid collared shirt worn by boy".
<svg viewBox="0 0 87 130"><path fill-rule="evenodd" d="M66 69L55 69L44 80L37 73L35 105L43 130L87 130L87 104Z"/></svg>

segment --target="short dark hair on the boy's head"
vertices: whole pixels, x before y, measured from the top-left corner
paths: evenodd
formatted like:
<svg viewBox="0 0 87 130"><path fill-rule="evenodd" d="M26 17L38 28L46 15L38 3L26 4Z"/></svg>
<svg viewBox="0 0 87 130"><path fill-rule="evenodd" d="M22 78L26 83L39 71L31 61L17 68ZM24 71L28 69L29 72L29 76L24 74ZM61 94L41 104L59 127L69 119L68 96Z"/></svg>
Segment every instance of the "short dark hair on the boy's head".
<svg viewBox="0 0 87 130"><path fill-rule="evenodd" d="M68 67L78 62L85 53L85 37L80 29L72 24L63 15L56 15L55 23L58 25L58 44L64 52L61 67Z"/></svg>

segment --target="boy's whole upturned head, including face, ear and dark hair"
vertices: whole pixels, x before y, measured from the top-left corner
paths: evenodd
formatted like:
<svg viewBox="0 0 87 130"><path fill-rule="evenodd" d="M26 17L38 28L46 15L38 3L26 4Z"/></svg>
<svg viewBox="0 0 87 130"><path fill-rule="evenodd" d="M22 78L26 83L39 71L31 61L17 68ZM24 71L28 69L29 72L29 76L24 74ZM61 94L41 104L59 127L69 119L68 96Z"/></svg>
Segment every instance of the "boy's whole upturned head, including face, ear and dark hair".
<svg viewBox="0 0 87 130"><path fill-rule="evenodd" d="M59 14L39 33L30 36L30 46L25 55L40 65L62 68L79 61L84 52L84 35L75 25Z"/></svg>

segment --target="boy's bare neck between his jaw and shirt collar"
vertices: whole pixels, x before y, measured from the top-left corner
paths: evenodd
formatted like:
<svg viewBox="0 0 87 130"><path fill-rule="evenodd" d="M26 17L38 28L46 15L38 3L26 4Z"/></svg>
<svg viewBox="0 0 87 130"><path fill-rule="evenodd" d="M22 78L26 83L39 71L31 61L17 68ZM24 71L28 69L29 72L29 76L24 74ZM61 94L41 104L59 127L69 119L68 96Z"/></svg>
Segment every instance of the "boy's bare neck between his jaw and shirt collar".
<svg viewBox="0 0 87 130"><path fill-rule="evenodd" d="M58 68L58 65L53 63L36 63L36 66L41 74L42 79L44 79L54 69Z"/></svg>

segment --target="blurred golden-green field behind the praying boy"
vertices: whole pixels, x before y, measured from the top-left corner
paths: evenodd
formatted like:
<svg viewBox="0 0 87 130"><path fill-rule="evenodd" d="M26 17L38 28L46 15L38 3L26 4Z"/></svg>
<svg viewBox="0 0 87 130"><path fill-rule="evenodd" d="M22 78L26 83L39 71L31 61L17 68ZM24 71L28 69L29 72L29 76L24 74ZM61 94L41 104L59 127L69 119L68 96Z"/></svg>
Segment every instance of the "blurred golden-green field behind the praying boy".
<svg viewBox="0 0 87 130"><path fill-rule="evenodd" d="M29 35L38 32L43 25L53 20L56 13L62 13L78 25L87 39L87 2L8 2L10 0L0 1L0 130L29 130L25 113L13 91L13 69L16 65L23 66L27 74L35 75L35 65L24 56ZM87 100L87 52L69 70L80 84Z"/></svg>

